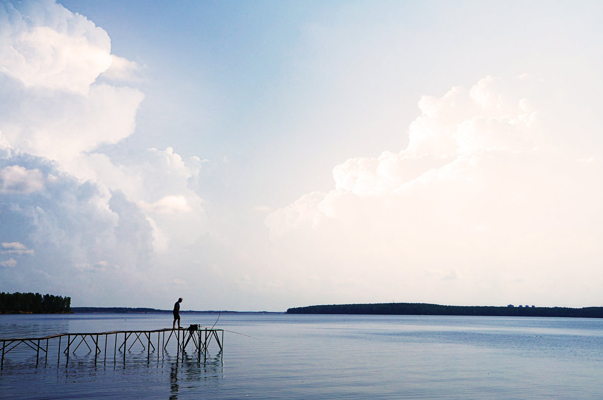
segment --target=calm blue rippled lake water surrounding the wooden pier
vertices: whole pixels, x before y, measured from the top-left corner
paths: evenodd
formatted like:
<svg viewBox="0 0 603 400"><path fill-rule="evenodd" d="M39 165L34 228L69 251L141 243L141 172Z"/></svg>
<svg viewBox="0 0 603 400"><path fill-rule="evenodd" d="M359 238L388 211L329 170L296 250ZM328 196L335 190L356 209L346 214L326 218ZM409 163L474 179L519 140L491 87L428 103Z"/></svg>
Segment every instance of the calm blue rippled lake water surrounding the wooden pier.
<svg viewBox="0 0 603 400"><path fill-rule="evenodd" d="M217 317L182 313L182 323ZM171 313L0 315L0 339L171 323ZM80 348L67 366L49 348L36 367L24 348L5 355L0 398L603 398L601 319L222 314L216 328L255 339L225 332L224 351L213 342L200 360L137 346L125 363L111 350L95 364Z"/></svg>

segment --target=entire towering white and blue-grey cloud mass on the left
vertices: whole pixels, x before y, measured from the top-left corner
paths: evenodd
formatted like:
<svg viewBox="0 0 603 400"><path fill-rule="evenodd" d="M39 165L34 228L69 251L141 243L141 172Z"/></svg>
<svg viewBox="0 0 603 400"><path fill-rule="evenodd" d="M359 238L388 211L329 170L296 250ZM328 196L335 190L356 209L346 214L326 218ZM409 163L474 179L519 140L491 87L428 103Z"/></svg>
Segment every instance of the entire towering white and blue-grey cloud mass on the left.
<svg viewBox="0 0 603 400"><path fill-rule="evenodd" d="M111 155L136 128L139 73L103 28L57 2L0 3L0 253L22 257L11 283L44 277L108 299L151 282L166 252L207 232L189 188L201 158L171 147Z"/></svg>

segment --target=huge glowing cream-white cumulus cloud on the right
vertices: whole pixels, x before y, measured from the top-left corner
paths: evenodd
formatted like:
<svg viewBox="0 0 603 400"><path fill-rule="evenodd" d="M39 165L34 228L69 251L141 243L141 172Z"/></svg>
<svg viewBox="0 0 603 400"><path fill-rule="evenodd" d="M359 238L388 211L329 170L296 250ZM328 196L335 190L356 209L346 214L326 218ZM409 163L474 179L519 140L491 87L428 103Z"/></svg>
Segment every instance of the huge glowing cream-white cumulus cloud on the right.
<svg viewBox="0 0 603 400"><path fill-rule="evenodd" d="M298 258L298 279L370 287L373 301L397 290L435 301L454 285L504 302L516 285L500 285L517 276L538 295L566 290L567 265L598 259L601 165L548 139L537 117L546 103L529 79L424 96L406 149L350 158L333 169L333 190L271 213L271 239Z"/></svg>

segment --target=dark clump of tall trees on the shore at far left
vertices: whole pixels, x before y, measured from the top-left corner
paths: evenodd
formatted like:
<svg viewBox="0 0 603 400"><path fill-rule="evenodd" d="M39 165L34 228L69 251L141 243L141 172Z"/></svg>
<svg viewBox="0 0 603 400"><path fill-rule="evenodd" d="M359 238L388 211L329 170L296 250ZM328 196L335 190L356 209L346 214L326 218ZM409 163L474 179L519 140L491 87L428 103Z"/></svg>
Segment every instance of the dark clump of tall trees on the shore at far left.
<svg viewBox="0 0 603 400"><path fill-rule="evenodd" d="M71 313L71 297L0 292L0 313Z"/></svg>

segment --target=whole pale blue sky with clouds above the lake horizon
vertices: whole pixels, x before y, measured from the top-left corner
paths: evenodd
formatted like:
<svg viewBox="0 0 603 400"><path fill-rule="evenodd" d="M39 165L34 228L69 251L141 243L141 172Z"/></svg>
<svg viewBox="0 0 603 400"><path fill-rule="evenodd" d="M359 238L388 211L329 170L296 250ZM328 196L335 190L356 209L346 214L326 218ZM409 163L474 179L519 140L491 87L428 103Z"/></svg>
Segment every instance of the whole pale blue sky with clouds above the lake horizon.
<svg viewBox="0 0 603 400"><path fill-rule="evenodd" d="M0 0L0 291L603 305L598 1Z"/></svg>

